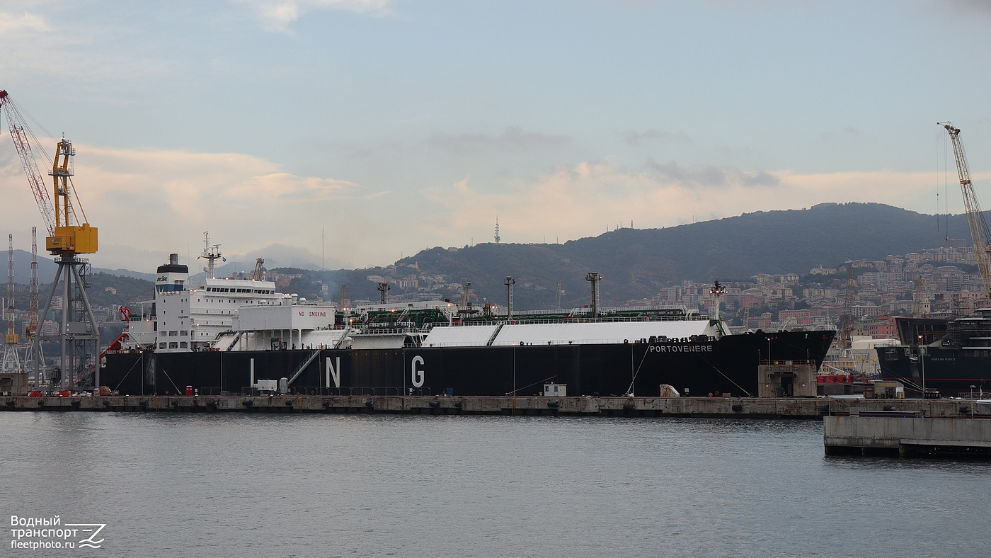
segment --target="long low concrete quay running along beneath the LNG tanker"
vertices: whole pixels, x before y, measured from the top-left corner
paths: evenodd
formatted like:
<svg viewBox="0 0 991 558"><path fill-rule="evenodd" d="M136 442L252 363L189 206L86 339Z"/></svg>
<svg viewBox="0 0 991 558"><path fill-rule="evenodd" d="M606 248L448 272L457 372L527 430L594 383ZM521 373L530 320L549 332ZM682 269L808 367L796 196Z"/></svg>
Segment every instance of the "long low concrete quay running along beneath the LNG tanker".
<svg viewBox="0 0 991 558"><path fill-rule="evenodd" d="M816 397L552 397L388 395L0 396L0 411L323 412L821 418L851 409L991 416L959 399Z"/></svg>

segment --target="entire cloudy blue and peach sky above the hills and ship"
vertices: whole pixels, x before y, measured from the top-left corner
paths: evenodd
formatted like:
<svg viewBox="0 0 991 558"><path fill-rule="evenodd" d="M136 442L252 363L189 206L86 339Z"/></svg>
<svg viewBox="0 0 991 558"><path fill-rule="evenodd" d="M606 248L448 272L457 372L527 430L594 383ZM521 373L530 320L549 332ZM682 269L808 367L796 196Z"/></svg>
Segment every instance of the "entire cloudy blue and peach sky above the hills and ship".
<svg viewBox="0 0 991 558"><path fill-rule="evenodd" d="M492 242L496 218L541 243L822 202L959 213L936 121L981 195L989 6L6 0L0 88L47 153L74 142L94 266L194 258L208 230L229 257L366 267ZM44 222L2 128L0 232L28 250Z"/></svg>

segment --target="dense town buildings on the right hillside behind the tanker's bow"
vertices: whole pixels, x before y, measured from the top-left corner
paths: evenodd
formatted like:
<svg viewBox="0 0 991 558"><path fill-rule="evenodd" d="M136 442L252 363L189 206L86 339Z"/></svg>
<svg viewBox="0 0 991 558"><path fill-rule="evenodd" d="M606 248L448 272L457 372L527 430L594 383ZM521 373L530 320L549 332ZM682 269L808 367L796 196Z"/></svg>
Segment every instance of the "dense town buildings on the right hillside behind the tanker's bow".
<svg viewBox="0 0 991 558"><path fill-rule="evenodd" d="M962 243L960 243L962 244ZM952 318L991 301L983 293L969 246L944 247L882 261L853 260L799 274L760 274L727 282L721 313L742 329L838 327L844 305L853 335L896 337L896 316ZM680 301L711 311L708 283L684 281L655 301Z"/></svg>

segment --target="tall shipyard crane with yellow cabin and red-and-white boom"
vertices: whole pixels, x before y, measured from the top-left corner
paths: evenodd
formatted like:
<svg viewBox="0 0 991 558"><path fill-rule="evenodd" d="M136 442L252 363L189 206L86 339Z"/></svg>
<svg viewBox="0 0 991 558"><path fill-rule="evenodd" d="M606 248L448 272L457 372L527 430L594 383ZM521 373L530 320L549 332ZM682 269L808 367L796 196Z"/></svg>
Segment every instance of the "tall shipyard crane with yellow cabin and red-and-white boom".
<svg viewBox="0 0 991 558"><path fill-rule="evenodd" d="M52 378L53 387L56 386L59 390L72 390L91 382L99 386L99 369L96 366L99 328L93 317L89 297L86 295L88 285L85 277L89 270L89 262L78 257L80 254L96 253L96 227L89 226L77 197L73 202L74 188L71 176L74 174L72 158L75 156L75 149L65 138L58 140L55 145L55 158L52 161L52 171L49 172L52 176L52 196L50 196L50 190L45 185L45 178L38 164L35 163L32 152L32 141L36 146L38 141L31 130L25 128L21 110L6 90L0 90L0 107L3 108L3 115L7 118L11 140L21 158L21 166L28 176L28 183L31 185L38 209L48 227L46 248L55 256L55 264L58 265L52 290L49 292L38 323L41 333L45 329L44 324L49 309L57 309L53 306L53 300L60 285L61 303L55 304L61 306L61 320L57 324L57 334L36 335L34 343L38 344L42 340L59 341L61 360L59 374L57 378L55 375ZM34 351L34 355L37 378L44 383L45 375L39 362L41 351Z"/></svg>

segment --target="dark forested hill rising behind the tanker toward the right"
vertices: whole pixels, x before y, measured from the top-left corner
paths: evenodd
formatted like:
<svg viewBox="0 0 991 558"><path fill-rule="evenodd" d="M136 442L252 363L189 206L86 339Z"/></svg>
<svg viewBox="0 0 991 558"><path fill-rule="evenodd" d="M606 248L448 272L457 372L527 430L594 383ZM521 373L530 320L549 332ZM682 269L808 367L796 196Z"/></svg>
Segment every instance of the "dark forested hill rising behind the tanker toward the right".
<svg viewBox="0 0 991 558"><path fill-rule="evenodd" d="M877 203L821 204L810 209L758 211L663 229L617 229L564 244L479 244L434 248L399 261L420 274L471 280L480 296L504 298L506 276L516 280L519 307L549 307L560 279L563 305L588 299L585 280L601 273L605 304L646 298L682 279L746 279L760 273L808 274L820 265L881 260L945 246L945 223ZM949 217L950 236L969 231L962 215Z"/></svg>

